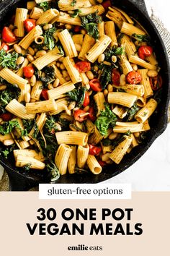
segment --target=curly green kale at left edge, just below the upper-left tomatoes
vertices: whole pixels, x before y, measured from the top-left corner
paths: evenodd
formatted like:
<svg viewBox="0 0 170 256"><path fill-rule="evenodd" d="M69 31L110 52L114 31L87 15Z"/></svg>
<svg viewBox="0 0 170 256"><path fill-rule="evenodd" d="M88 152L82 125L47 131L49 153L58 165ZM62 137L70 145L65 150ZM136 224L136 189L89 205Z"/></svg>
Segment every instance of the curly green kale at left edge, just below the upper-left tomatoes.
<svg viewBox="0 0 170 256"><path fill-rule="evenodd" d="M17 67L18 54L14 51L12 54L7 54L4 49L0 51L0 66L15 69Z"/></svg>

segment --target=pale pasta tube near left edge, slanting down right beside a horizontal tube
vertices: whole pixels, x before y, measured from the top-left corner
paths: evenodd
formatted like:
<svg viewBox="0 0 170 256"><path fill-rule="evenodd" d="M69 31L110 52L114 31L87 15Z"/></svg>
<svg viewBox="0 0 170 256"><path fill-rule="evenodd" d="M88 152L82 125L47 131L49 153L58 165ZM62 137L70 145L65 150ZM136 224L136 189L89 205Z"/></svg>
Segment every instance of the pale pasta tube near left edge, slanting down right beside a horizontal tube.
<svg viewBox="0 0 170 256"><path fill-rule="evenodd" d="M27 114L26 107L15 99L9 102L9 104L6 106L6 110L14 114L14 116L20 117L21 119L35 118L35 114L32 114L32 112L30 114Z"/></svg>

